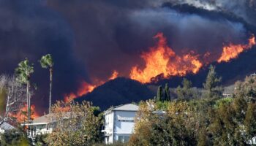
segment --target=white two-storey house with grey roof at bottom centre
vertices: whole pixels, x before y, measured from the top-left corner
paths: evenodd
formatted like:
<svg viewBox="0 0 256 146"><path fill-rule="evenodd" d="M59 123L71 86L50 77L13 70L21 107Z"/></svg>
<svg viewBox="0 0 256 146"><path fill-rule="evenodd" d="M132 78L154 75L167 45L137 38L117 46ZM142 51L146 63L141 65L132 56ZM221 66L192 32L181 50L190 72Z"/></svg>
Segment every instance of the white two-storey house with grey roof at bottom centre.
<svg viewBox="0 0 256 146"><path fill-rule="evenodd" d="M139 107L135 104L124 104L112 107L104 112L105 123L102 132L104 132L106 144L115 141L127 142L129 140L138 110Z"/></svg>

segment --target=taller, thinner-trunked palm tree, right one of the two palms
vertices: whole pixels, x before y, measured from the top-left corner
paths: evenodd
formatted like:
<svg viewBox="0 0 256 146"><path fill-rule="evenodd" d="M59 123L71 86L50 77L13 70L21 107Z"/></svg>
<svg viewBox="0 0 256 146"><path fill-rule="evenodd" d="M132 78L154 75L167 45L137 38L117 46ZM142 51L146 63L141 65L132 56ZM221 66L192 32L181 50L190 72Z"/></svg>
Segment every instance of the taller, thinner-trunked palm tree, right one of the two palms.
<svg viewBox="0 0 256 146"><path fill-rule="evenodd" d="M48 69L50 71L50 93L49 93L49 113L50 113L50 105L51 105L51 96L52 96L52 84L53 84L53 58L50 54L43 55L40 64L42 68Z"/></svg>

